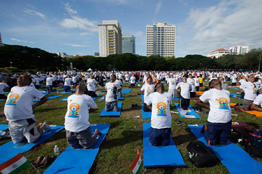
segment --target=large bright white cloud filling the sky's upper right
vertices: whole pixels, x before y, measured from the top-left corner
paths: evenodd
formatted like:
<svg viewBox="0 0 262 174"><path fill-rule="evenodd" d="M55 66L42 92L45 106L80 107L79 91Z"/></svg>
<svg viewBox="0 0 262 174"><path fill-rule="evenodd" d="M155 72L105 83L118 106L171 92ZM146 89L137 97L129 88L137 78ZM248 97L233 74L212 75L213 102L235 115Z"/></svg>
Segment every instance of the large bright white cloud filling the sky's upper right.
<svg viewBox="0 0 262 174"><path fill-rule="evenodd" d="M234 45L262 47L259 45L262 43L261 6L262 1L241 0L222 1L217 6L191 9L184 24L188 36L183 33L181 43L187 47L189 54L203 55Z"/></svg>

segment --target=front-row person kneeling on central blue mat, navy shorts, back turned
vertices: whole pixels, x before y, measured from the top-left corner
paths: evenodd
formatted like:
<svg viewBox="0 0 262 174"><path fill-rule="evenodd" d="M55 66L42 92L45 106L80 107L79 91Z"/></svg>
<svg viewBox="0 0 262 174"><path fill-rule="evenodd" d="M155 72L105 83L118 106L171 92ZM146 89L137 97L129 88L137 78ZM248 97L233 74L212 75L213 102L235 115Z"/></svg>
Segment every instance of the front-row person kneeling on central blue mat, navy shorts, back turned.
<svg viewBox="0 0 262 174"><path fill-rule="evenodd" d="M172 95L164 92L162 83L155 86L154 93L151 93L145 103L152 111L150 144L154 146L169 145L171 134L171 113ZM152 106L150 106L152 104Z"/></svg>

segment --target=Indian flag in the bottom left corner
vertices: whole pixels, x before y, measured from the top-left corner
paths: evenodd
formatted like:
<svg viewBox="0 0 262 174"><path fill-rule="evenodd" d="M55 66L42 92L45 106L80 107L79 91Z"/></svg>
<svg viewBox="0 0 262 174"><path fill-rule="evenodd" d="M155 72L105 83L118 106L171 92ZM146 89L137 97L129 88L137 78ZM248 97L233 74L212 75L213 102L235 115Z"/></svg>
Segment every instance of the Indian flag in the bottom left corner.
<svg viewBox="0 0 262 174"><path fill-rule="evenodd" d="M9 159L0 165L0 171L3 174L6 173L20 173L20 171L27 168L30 165L30 162L24 157L21 153L16 155L15 157Z"/></svg>

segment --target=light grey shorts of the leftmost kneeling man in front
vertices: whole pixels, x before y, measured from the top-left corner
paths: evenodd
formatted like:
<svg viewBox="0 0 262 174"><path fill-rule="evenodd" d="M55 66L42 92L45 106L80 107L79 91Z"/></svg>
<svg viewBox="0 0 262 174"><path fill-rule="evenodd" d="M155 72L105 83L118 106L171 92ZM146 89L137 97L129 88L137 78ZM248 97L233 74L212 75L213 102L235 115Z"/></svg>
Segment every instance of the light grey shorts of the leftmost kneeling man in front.
<svg viewBox="0 0 262 174"><path fill-rule="evenodd" d="M33 143L41 136L36 128L35 118L9 121L8 127L14 143L20 143L25 139L28 143Z"/></svg>

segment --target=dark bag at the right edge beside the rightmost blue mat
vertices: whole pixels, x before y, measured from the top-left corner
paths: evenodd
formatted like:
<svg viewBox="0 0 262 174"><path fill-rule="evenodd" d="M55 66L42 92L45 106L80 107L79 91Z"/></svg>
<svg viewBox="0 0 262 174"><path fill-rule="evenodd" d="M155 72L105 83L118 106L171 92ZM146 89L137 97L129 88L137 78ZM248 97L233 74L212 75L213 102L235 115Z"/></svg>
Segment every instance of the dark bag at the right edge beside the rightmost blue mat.
<svg viewBox="0 0 262 174"><path fill-rule="evenodd" d="M262 138L257 136L249 136L247 139L243 139L242 142L245 146L245 150L252 157L262 157Z"/></svg>

